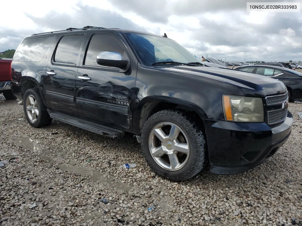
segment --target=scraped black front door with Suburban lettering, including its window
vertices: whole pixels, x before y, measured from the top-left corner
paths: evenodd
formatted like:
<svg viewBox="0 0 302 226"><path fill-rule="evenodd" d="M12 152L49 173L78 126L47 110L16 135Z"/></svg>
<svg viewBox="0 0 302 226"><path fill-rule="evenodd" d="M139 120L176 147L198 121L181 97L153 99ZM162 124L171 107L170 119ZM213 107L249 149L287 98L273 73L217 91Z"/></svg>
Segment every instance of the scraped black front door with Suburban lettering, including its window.
<svg viewBox="0 0 302 226"><path fill-rule="evenodd" d="M127 130L132 123L136 70L132 70L135 73L131 70L121 73L119 68L97 64L96 57L103 51L125 54L114 36L96 33L91 37L77 71L76 105L79 117Z"/></svg>

